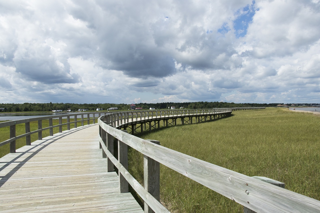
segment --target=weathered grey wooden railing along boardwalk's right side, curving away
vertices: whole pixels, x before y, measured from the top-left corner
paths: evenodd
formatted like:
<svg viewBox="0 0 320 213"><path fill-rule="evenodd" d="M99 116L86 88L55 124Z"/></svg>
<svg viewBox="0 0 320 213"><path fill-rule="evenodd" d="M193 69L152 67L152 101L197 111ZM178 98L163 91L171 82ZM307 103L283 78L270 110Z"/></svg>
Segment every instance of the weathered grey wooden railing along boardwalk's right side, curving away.
<svg viewBox="0 0 320 213"><path fill-rule="evenodd" d="M249 177L160 146L159 141L144 140L119 129L124 122L144 122L144 119L150 119L150 116L170 118L186 116L188 113L197 116L200 115L198 113L219 114L219 112L165 110L150 112L152 115L149 112L128 113L131 114L112 113L98 119L100 146L102 157L108 158L108 172L114 171L114 166L119 170L119 191L128 192L130 184L145 202L145 212L168 212L159 202L160 163L240 203L247 209L246 212L320 212L320 201L271 185L268 183L270 180L268 178ZM118 159L114 157L114 138L118 141ZM128 146L144 155L144 187L128 172ZM267 179L267 182L260 179Z"/></svg>

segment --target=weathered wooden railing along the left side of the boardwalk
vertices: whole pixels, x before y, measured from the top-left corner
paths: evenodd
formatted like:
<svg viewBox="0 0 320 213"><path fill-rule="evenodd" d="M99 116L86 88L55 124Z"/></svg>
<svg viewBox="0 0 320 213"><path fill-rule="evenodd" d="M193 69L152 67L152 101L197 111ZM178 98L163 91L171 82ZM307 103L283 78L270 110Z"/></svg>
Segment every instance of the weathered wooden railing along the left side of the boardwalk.
<svg viewBox="0 0 320 213"><path fill-rule="evenodd" d="M107 114L107 112L87 112L87 113L73 113L73 114L60 114L60 115L52 115L52 116L44 116L44 117L36 117L36 118L28 118L28 119L21 119L15 121L7 121L7 122L0 122L0 128L9 127L10 128L10 139L7 139L0 143L0 146L10 143L10 153L16 152L16 140L20 138L26 138L26 145L31 145L31 135L38 133L38 140L42 139L42 132L44 130L49 130L50 136L53 135L53 128L59 128L59 132L62 132L62 126L67 125L67 130L70 130L70 124L74 123L74 128L77 127L77 124L81 122L81 126L84 126L84 122L90 124L90 122L95 123L98 117L95 115L98 114L100 117L101 115ZM74 121L70 122L70 117L74 118ZM67 122L62 123L62 118L67 118ZM80 120L78 120L78 118ZM59 119L59 124L53 125L53 119ZM42 123L43 121L48 120L49 126L43 128ZM30 131L30 122L38 122L37 130ZM22 135L16 135L16 125L25 124L26 133Z"/></svg>

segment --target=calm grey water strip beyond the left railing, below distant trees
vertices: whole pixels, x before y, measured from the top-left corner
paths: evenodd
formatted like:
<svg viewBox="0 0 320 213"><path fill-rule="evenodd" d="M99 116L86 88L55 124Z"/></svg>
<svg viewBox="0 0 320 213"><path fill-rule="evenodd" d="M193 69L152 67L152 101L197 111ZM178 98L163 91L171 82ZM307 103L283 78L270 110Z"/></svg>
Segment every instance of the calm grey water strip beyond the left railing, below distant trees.
<svg viewBox="0 0 320 213"><path fill-rule="evenodd" d="M14 121L14 120L21 120L21 119L27 119L27 118L35 118L35 117L44 117L44 116L50 116L50 115L60 115L60 114L74 114L74 113L32 113L32 114L18 114L18 113L12 113L12 114L0 114L0 121ZM92 114L90 114L92 117ZM94 115L96 118L99 117L99 114L96 113ZM77 118L79 119L81 116L78 115ZM70 118L74 118L74 116L70 116ZM84 118L87 118L87 115L84 115Z"/></svg>

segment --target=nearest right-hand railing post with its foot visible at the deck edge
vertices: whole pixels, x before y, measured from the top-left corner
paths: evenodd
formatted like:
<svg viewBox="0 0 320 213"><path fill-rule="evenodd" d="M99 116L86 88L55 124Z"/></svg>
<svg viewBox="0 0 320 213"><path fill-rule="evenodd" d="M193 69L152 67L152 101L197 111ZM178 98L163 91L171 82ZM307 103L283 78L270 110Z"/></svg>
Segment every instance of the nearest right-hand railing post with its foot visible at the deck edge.
<svg viewBox="0 0 320 213"><path fill-rule="evenodd" d="M127 132L126 130L122 130ZM118 161L122 166L128 170L128 145L118 140ZM128 181L119 172L119 192L127 193L129 192Z"/></svg>

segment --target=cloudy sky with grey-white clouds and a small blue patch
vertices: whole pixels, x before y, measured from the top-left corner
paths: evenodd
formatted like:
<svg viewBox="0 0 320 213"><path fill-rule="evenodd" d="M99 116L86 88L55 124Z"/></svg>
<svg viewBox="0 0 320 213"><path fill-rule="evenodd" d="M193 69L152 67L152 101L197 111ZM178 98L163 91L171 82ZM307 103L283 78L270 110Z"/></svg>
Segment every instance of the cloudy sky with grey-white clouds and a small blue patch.
<svg viewBox="0 0 320 213"><path fill-rule="evenodd" d="M320 103L320 0L0 0L0 103Z"/></svg>

